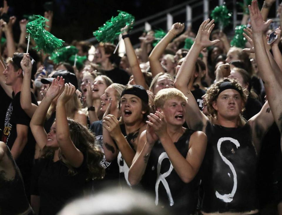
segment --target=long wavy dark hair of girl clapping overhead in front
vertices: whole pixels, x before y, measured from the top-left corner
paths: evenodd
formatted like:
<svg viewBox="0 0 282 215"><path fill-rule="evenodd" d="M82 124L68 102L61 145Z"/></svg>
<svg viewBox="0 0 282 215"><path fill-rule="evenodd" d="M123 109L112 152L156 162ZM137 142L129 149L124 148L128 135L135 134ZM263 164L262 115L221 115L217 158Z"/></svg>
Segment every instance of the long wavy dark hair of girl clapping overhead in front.
<svg viewBox="0 0 282 215"><path fill-rule="evenodd" d="M74 121L73 119L67 119L70 130L70 139L77 149L79 149L83 156L84 161L88 168L88 180L102 179L105 175L105 169L100 165L100 161L103 159L103 152L98 144L95 144L95 135L82 124ZM50 147L44 146L42 149L41 158L47 158L54 155L54 151ZM71 175L77 174L77 171L73 166L69 164L64 155L59 149L59 159L68 166L68 173Z"/></svg>

